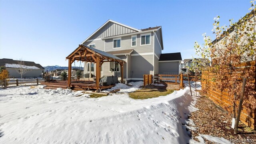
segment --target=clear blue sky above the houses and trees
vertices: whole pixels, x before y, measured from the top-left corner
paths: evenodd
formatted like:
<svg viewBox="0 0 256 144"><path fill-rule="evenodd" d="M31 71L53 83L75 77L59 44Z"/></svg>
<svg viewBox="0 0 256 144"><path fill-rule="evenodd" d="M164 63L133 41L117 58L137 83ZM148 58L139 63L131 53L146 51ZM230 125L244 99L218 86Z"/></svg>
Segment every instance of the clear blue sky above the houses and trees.
<svg viewBox="0 0 256 144"><path fill-rule="evenodd" d="M65 61L84 39L108 19L134 28L162 26L162 53L195 56L194 42L248 13L250 0L169 1L0 1L0 58L22 58L42 66Z"/></svg>

